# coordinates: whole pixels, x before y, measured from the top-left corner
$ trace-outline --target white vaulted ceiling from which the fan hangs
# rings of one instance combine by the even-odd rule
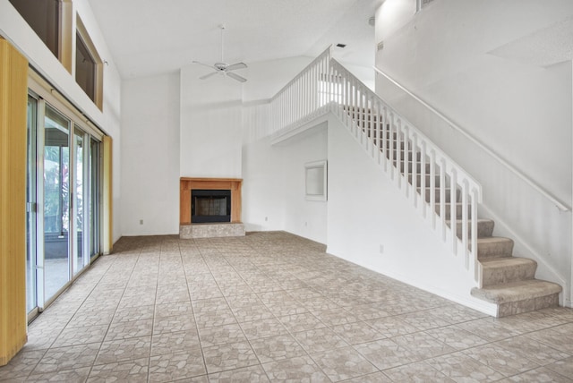
[[[222,23],[229,64],[316,56],[343,43],[335,57],[371,66],[368,19],[383,0],[89,1],[121,75],[141,77],[219,61]]]

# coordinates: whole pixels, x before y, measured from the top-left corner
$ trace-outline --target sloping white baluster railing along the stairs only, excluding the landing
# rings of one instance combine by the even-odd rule
[[[451,243],[452,252],[463,256],[466,269],[481,284],[477,204],[482,202],[482,185],[334,58],[329,79],[334,115],[396,181],[398,190],[405,191],[442,241]],[[456,202],[461,202],[459,215]]]

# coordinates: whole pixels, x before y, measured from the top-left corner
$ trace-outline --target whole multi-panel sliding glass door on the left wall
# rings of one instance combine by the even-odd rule
[[[27,308],[33,317],[99,254],[99,140],[43,98],[28,102]]]

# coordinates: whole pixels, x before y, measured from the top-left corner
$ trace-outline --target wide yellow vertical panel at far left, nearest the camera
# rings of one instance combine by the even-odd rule
[[[28,61],[0,38],[0,366],[26,343]]]

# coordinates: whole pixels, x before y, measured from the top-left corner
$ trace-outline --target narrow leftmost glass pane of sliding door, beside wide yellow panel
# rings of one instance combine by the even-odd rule
[[[28,137],[26,149],[26,311],[38,307],[36,272],[36,128],[38,100],[28,97]]]

